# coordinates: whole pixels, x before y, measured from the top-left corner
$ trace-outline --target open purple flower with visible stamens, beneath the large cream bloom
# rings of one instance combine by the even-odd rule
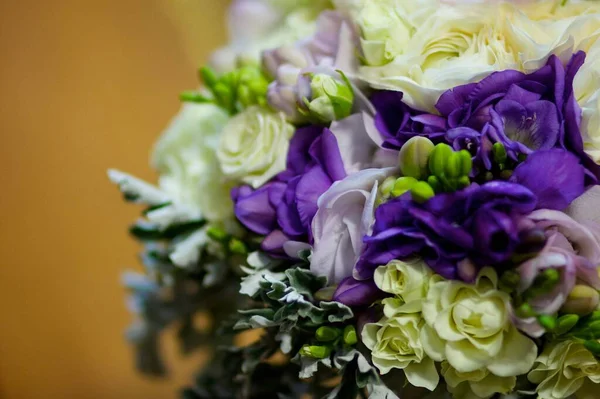
[[[531,74],[496,72],[445,92],[436,108],[447,121],[446,139],[455,148],[478,146],[477,160],[485,169],[490,169],[491,145],[496,142],[514,161],[519,154],[560,148],[586,168],[586,185],[597,183],[600,166],[583,150],[581,110],[573,94],[573,78],[584,60],[585,53],[579,52],[565,67],[552,56]]]

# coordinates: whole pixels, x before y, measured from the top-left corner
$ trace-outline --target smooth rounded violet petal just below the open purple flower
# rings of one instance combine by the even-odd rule
[[[579,159],[560,149],[536,151],[520,164],[511,181],[530,189],[538,209],[562,211],[585,191],[585,169]]]

